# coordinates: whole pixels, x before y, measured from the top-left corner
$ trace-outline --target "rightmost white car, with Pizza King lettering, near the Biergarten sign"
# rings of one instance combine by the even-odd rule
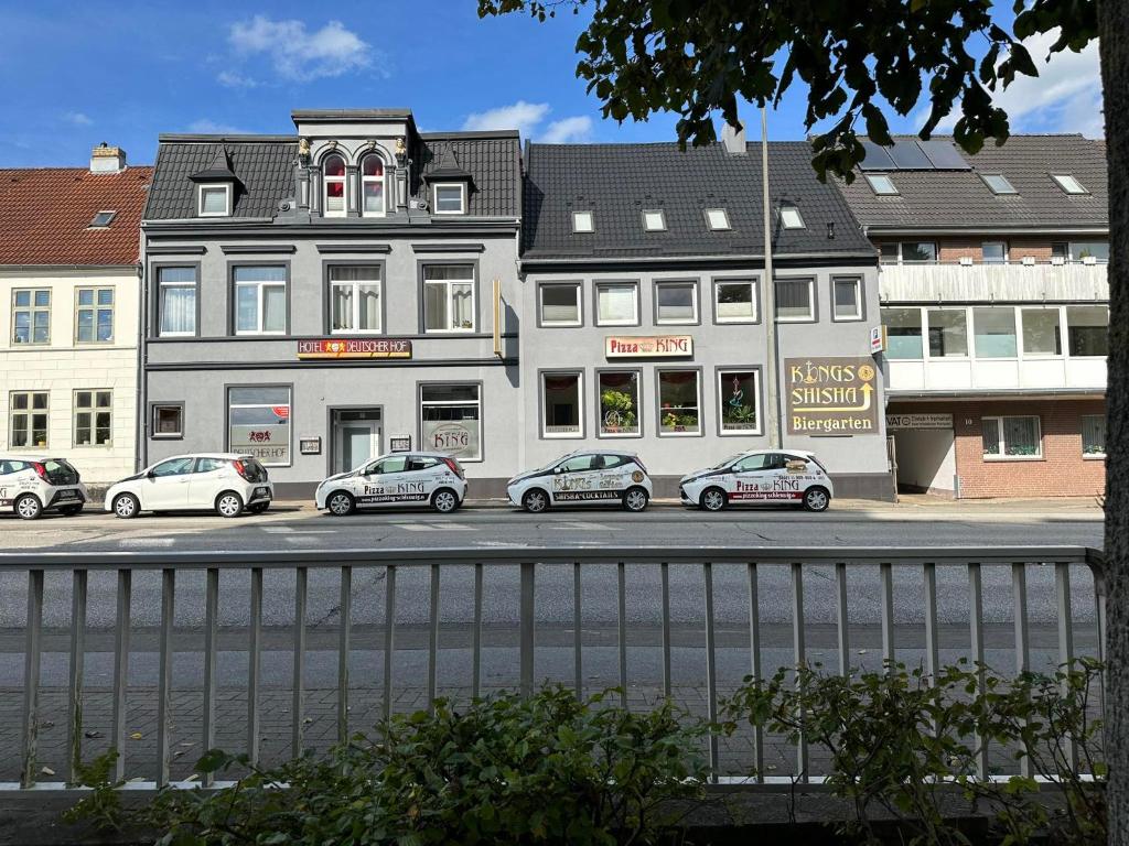
[[[720,511],[734,503],[795,503],[808,511],[826,511],[834,486],[812,452],[755,449],[686,474],[679,482],[679,493],[683,504],[706,511]]]

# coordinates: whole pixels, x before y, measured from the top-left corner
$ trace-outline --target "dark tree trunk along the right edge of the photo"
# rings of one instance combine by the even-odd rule
[[[1105,435],[1106,760],[1110,843],[1129,844],[1129,2],[1100,0],[1110,175],[1110,356]]]

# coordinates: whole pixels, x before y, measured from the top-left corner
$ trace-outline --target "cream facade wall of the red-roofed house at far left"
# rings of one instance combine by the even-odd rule
[[[114,290],[113,341],[77,343],[78,288]],[[14,343],[14,291],[51,291],[49,344]],[[138,368],[138,289],[132,267],[113,270],[5,271],[0,273],[0,452],[50,452],[70,460],[95,486],[129,475],[134,468]],[[47,441],[12,448],[11,394],[47,391]],[[75,391],[112,391],[112,434],[106,446],[76,446]]]

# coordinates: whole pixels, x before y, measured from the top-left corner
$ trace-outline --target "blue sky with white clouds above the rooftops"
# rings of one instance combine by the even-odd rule
[[[158,133],[292,133],[295,108],[408,107],[422,131],[518,129],[550,143],[673,140],[672,115],[601,117],[575,73],[583,18],[480,20],[476,7],[0,0],[3,166],[78,166],[103,141],[150,164]],[[1096,45],[1044,67],[1050,41],[1032,45],[1041,78],[1000,97],[1013,131],[1100,135]],[[797,88],[770,135],[803,138],[803,115]],[[913,132],[924,112],[890,117]]]

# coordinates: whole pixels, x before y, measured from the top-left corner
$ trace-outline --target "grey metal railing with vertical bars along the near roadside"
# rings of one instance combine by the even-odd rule
[[[131,631],[134,619],[131,616],[133,605],[134,574],[139,571],[158,572],[159,582],[159,625],[157,627],[159,636],[158,645],[158,668],[156,685],[156,778],[143,783],[130,784],[131,787],[160,787],[170,783],[170,725],[173,721],[173,656],[174,656],[174,613],[177,603],[178,576],[189,571],[203,571],[204,584],[202,596],[203,625],[201,627],[182,626],[182,645],[187,637],[193,643],[199,643],[202,647],[203,676],[202,690],[202,717],[200,722],[200,748],[211,749],[216,746],[217,734],[217,667],[218,667],[218,644],[220,634],[220,573],[222,571],[250,572],[250,602],[246,607],[246,652],[247,652],[247,717],[246,717],[246,752],[252,761],[260,760],[260,735],[262,731],[261,702],[263,697],[263,574],[264,571],[292,571],[294,582],[294,618],[292,632],[292,686],[290,723],[291,737],[290,749],[301,750],[304,746],[305,704],[306,704],[306,658],[307,658],[307,603],[309,598],[309,572],[313,571],[336,571],[340,574],[340,598],[336,605],[336,735],[344,739],[349,735],[349,711],[350,695],[353,686],[350,679],[350,655],[353,650],[353,575],[355,572],[366,574],[383,574],[384,597],[383,597],[383,632],[380,642],[383,643],[383,678],[380,685],[380,714],[388,716],[394,710],[395,694],[400,679],[394,673],[394,660],[397,650],[397,633],[404,632],[408,624],[397,624],[397,592],[396,578],[399,573],[406,571],[418,572],[423,569],[428,574],[428,590],[426,602],[423,593],[413,594],[409,599],[417,601],[421,610],[426,607],[426,624],[415,626],[415,634],[425,634],[426,625],[427,640],[427,669],[425,684],[427,702],[431,703],[444,688],[447,680],[439,677],[439,638],[441,585],[444,576],[453,571],[460,574],[457,581],[472,585],[473,592],[470,602],[471,614],[469,618],[462,620],[464,627],[469,629],[470,651],[470,695],[478,697],[483,693],[482,658],[483,658],[483,607],[484,588],[487,587],[487,575],[493,576],[499,572],[513,584],[516,575],[517,603],[516,608],[510,608],[514,614],[511,619],[516,623],[509,626],[507,632],[516,634],[517,652],[517,677],[514,679],[516,687],[524,694],[534,690],[535,685],[550,679],[537,678],[535,673],[535,656],[537,654],[539,627],[544,626],[544,620],[539,620],[537,614],[537,585],[539,580],[545,579],[546,573],[555,576],[564,576],[564,584],[571,582],[571,619],[564,618],[564,623],[571,624],[571,678],[551,679],[553,681],[567,682],[576,688],[580,695],[585,688],[585,661],[586,650],[584,644],[585,633],[585,573],[593,567],[614,567],[615,597],[614,597],[614,631],[615,631],[615,680],[620,688],[621,703],[629,705],[629,658],[633,650],[629,647],[629,614],[628,597],[629,583],[628,572],[633,574],[645,574],[648,579],[654,579],[657,571],[658,607],[647,608],[649,616],[654,619],[653,625],[657,626],[659,637],[658,649],[660,651],[659,676],[656,684],[656,694],[669,697],[674,689],[672,682],[672,647],[673,631],[681,626],[700,631],[703,637],[701,646],[702,655],[700,662],[694,662],[694,667],[700,670],[698,682],[704,687],[706,716],[711,720],[718,716],[718,664],[719,652],[718,636],[719,626],[716,620],[716,597],[715,597],[715,573],[718,569],[725,569],[728,580],[735,570],[739,569],[747,593],[744,598],[733,594],[725,596],[727,608],[743,607],[741,627],[747,626],[747,640],[743,643],[738,640],[734,645],[733,626],[734,620],[727,622],[727,627],[723,633],[729,643],[726,650],[739,650],[745,656],[742,664],[747,668],[745,672],[754,677],[762,677],[767,670],[771,675],[777,664],[765,666],[765,656],[772,653],[765,641],[767,626],[762,624],[762,613],[768,609],[774,618],[781,622],[777,629],[790,629],[790,643],[785,646],[785,654],[788,660],[785,666],[795,667],[809,661],[809,649],[807,637],[809,632],[815,631],[815,624],[811,620],[811,615],[805,614],[805,575],[815,573],[821,576],[823,589],[829,589],[833,594],[830,605],[824,609],[830,609],[829,616],[834,618],[834,636],[832,652],[835,653],[834,667],[840,673],[849,673],[852,670],[851,637],[852,627],[859,625],[874,625],[881,633],[881,658],[883,660],[895,660],[901,651],[904,655],[907,651],[914,654],[921,653],[920,658],[928,673],[935,673],[940,667],[940,634],[946,631],[951,644],[954,640],[954,629],[961,628],[954,625],[952,619],[947,623],[940,620],[938,614],[938,573],[943,574],[948,588],[946,602],[951,606],[953,589],[960,587],[960,593],[964,597],[966,591],[966,608],[962,609],[962,616],[966,629],[966,641],[962,636],[961,644],[955,649],[961,654],[971,660],[984,661],[986,656],[986,626],[1008,627],[1006,619],[987,622],[984,617],[984,574],[992,573],[1001,579],[995,580],[997,588],[1001,584],[1009,584],[1010,590],[1004,587],[991,596],[995,605],[999,605],[999,593],[1009,593],[1004,601],[1009,602],[1012,609],[1009,650],[1014,652],[1015,669],[1017,671],[1031,668],[1032,633],[1031,633],[1031,597],[1027,584],[1029,569],[1036,566],[1050,566],[1053,569],[1053,588],[1049,591],[1053,593],[1053,605],[1049,606],[1051,597],[1038,597],[1042,608],[1052,608],[1053,628],[1057,634],[1057,650],[1053,650],[1054,663],[1066,663],[1075,658],[1075,607],[1077,600],[1071,596],[1071,570],[1079,566],[1088,569],[1092,573],[1093,601],[1084,602],[1082,607],[1088,609],[1085,615],[1093,615],[1093,628],[1088,629],[1094,636],[1094,655],[1102,658],[1105,631],[1105,589],[1102,566],[1102,554],[1099,550],[1083,547],[1013,547],[1013,548],[701,548],[701,547],[676,547],[676,548],[498,548],[498,549],[408,549],[408,550],[343,550],[331,556],[322,554],[306,554],[300,552],[272,552],[272,553],[166,553],[166,554],[103,554],[103,553],[47,553],[37,555],[24,554],[0,554],[0,575],[11,578],[12,574],[26,572],[27,579],[27,617],[26,617],[26,640],[24,647],[24,672],[23,672],[23,714],[21,732],[18,749],[0,748],[0,756],[8,756],[11,759],[19,756],[21,761],[19,782],[0,783],[0,790],[30,790],[30,788],[63,788],[78,782],[78,768],[81,763],[81,748],[84,737],[84,664],[87,652],[87,611],[88,611],[88,580],[90,574],[106,573],[116,574],[116,617],[113,626],[113,675],[110,686],[112,695],[112,717],[110,744],[117,749],[120,757],[116,760],[115,775],[119,779],[131,777],[131,764],[133,761],[124,755],[126,748],[126,697],[129,695],[129,666],[131,653]],[[701,594],[701,618],[693,619],[692,623],[672,623],[672,570],[682,572],[690,569],[697,581],[700,574]],[[561,573],[563,571],[563,573]],[[63,574],[59,576],[56,574]],[[44,724],[44,716],[41,713],[41,667],[44,652],[44,585],[45,575],[51,575],[52,580],[64,579],[70,574],[71,613],[67,625],[55,628],[63,634],[69,634],[69,672],[67,679],[67,731],[68,731],[68,760],[65,781],[62,782],[40,782],[37,776],[37,739],[41,726]],[[473,581],[466,576],[473,574]],[[568,575],[571,579],[568,579]],[[860,597],[865,601],[852,602],[848,585],[848,574],[851,580],[865,579],[867,584],[873,584],[873,589],[867,589],[861,593],[856,592],[855,599]],[[895,579],[896,574],[896,579]],[[422,575],[422,574],[420,574]],[[771,576],[771,578],[770,578]],[[1074,581],[1078,581],[1075,572]],[[110,578],[113,578],[110,576]],[[920,581],[918,581],[920,579]],[[909,582],[907,582],[909,580]],[[1048,580],[1041,580],[1048,581]],[[1087,580],[1088,581],[1088,580]],[[762,585],[772,585],[772,591],[778,599],[787,596],[787,608],[781,606],[785,602],[769,605],[771,599],[761,594]],[[63,581],[63,584],[65,582]],[[901,585],[902,592],[895,591],[895,584]],[[1049,585],[1047,585],[1049,588]],[[1091,584],[1086,585],[1087,588]],[[567,588],[566,588],[567,590]],[[920,591],[920,593],[918,592]],[[734,591],[735,592],[735,591]],[[910,599],[910,610],[904,605],[905,597]],[[914,605],[914,600],[920,597],[920,606]],[[403,599],[404,597],[400,597]],[[496,597],[497,598],[497,597]],[[863,614],[859,609],[873,599],[877,600],[877,619],[873,615],[868,620],[860,619],[868,614]],[[603,598],[610,603],[610,597]],[[680,596],[680,601],[685,597]],[[895,599],[903,600],[901,608],[902,622],[895,618]],[[769,603],[767,603],[769,602]],[[609,605],[609,607],[611,607]],[[946,606],[947,607],[947,606]],[[787,610],[787,614],[785,614]],[[966,613],[965,613],[966,610]],[[952,608],[947,614],[952,617]],[[905,618],[911,622],[907,623]],[[560,624],[560,619],[558,623]],[[540,624],[540,626],[539,626]],[[875,625],[876,624],[876,625]],[[244,626],[240,625],[240,628]],[[632,629],[636,624],[632,623]],[[69,632],[68,632],[69,629]],[[516,629],[516,631],[515,631]],[[994,631],[995,631],[994,629]],[[563,627],[567,633],[568,626]],[[781,637],[782,632],[777,632]],[[924,650],[918,644],[920,635],[924,634]],[[744,637],[744,635],[742,635]],[[1088,638],[1088,635],[1087,635]],[[913,641],[910,644],[909,641]],[[997,638],[998,640],[998,638]],[[901,642],[900,642],[901,641]],[[460,649],[465,649],[463,641]],[[542,649],[545,649],[542,646]],[[560,651],[559,644],[555,646]],[[953,651],[953,646],[946,647],[947,652]],[[781,651],[776,650],[779,654]],[[826,652],[828,650],[823,650]],[[132,694],[137,696],[137,691]],[[755,769],[755,779],[765,785],[790,785],[793,777],[772,777],[765,775],[764,755],[765,739],[760,730],[754,730],[751,738],[751,760],[750,765]],[[808,757],[807,744],[800,739],[796,746],[796,778],[799,781],[819,781],[820,774],[816,772]],[[714,737],[709,741],[710,763],[717,767],[718,764],[718,738]],[[1019,766],[1023,766],[1022,763]],[[979,770],[982,776],[989,774],[989,761],[987,748],[980,754]],[[204,785],[210,784],[208,777],[203,779]]]

